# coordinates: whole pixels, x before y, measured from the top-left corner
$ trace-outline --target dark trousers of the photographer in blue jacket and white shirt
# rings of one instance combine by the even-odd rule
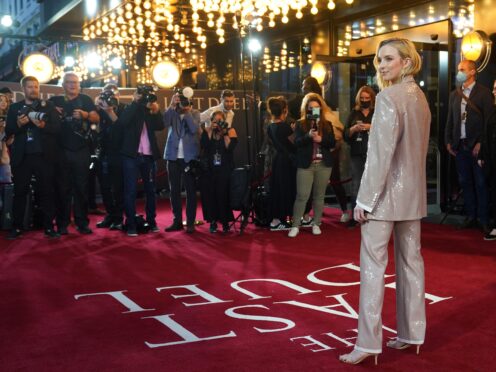
[[[184,188],[186,189],[186,221],[188,225],[193,225],[196,219],[196,182],[195,176],[191,172],[184,172],[185,168],[184,159],[167,161],[167,175],[169,177],[174,222],[182,223],[181,182],[184,182]]]

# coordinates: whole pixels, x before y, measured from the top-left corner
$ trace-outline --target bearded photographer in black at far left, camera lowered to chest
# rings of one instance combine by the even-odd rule
[[[60,120],[52,103],[40,100],[40,85],[33,76],[21,80],[24,99],[13,103],[7,114],[5,135],[14,135],[11,167],[14,180],[14,223],[8,239],[21,235],[31,177],[37,180],[45,236],[59,237],[53,230],[54,164]]]

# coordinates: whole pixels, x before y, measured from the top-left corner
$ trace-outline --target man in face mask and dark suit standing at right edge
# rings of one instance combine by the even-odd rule
[[[488,192],[485,175],[477,158],[493,110],[493,100],[489,89],[476,82],[476,74],[475,62],[463,60],[459,63],[456,80],[461,86],[450,95],[445,142],[446,149],[455,157],[467,214],[467,219],[460,227],[475,227],[479,218],[487,233]]]

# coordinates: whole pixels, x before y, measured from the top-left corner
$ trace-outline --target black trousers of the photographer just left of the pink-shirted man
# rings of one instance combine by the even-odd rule
[[[107,217],[113,223],[122,223],[124,212],[124,179],[120,155],[102,156],[98,160],[98,178]]]

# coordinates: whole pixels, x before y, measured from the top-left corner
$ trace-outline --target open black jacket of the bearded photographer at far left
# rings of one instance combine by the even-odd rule
[[[41,102],[45,102],[45,106],[40,105],[39,108],[37,108],[37,111],[48,114],[48,119],[45,121],[45,127],[39,129],[39,132],[41,133],[41,149],[43,158],[47,162],[53,163],[57,158],[57,150],[59,149],[57,146],[57,137],[60,131],[60,118],[52,102]],[[22,163],[26,152],[27,129],[29,126],[34,126],[33,123],[28,123],[22,127],[17,125],[19,110],[24,105],[24,100],[13,103],[9,107],[9,111],[7,113],[5,134],[6,136],[10,136],[12,134],[14,135],[14,142],[12,143],[10,154],[10,165],[13,168]]]

